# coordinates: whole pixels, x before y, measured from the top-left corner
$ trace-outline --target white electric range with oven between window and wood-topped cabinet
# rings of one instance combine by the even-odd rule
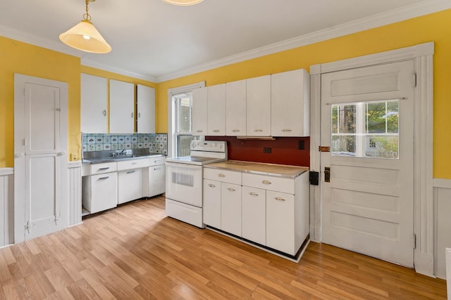
[[[204,228],[202,166],[226,160],[225,141],[192,141],[190,156],[166,158],[166,215]]]

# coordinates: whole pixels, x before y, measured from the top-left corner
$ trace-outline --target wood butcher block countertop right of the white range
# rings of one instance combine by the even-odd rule
[[[204,167],[285,178],[296,178],[304,172],[309,171],[308,167],[289,166],[285,164],[266,164],[262,162],[242,162],[239,160],[215,162],[214,164],[205,164]]]

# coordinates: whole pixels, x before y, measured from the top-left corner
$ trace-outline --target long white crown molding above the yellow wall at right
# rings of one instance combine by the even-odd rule
[[[367,18],[354,20],[342,25],[326,28],[325,30],[319,30],[310,34],[304,34],[300,37],[287,39],[278,43],[270,44],[260,48],[255,48],[250,51],[237,53],[233,56],[214,60],[209,63],[190,67],[178,72],[169,73],[160,77],[156,77],[156,82],[168,81],[171,79],[184,77],[190,74],[204,72],[214,69],[216,67],[224,67],[233,63],[240,63],[245,60],[253,58],[259,58],[261,56],[267,56],[269,54],[278,53],[280,51],[289,50],[301,46],[307,46],[309,44],[318,43],[319,41],[326,41],[336,37],[342,37],[347,34],[360,32],[363,30],[369,30],[371,28],[381,27],[383,25],[392,24],[394,22],[400,22],[411,18],[416,18],[421,15],[428,15],[430,13],[436,13],[438,11],[444,11],[451,8],[451,1],[449,0],[425,0],[409,6],[403,6],[402,8],[396,8],[385,13],[378,13],[371,15]]]

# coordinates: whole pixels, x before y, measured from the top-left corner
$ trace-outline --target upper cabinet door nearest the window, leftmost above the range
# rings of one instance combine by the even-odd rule
[[[206,136],[207,96],[207,88],[192,90],[191,132],[193,136]]]

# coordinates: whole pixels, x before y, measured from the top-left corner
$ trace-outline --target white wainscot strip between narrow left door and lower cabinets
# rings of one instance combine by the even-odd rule
[[[69,226],[82,223],[82,164],[68,162]]]

